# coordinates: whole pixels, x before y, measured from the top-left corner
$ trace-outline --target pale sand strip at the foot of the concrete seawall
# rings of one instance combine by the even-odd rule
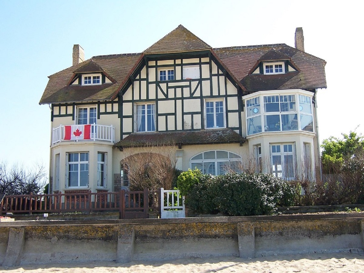
[[[0,272],[364,272],[364,254],[325,253],[241,259],[235,257],[186,258],[174,261],[88,262],[47,265],[0,266]]]

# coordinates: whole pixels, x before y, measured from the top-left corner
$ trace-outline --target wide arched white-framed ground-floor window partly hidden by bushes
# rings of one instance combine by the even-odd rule
[[[209,158],[204,158],[205,153],[207,152],[214,152],[215,153],[215,158],[214,159],[209,159]],[[228,156],[227,158],[217,158],[217,152],[227,152]],[[202,159],[192,159],[194,157],[197,157],[198,155],[202,155]],[[212,175],[219,175],[219,166],[218,163],[219,162],[227,162],[230,163],[231,162],[238,162],[240,163],[240,165],[242,164],[242,157],[239,154],[233,153],[231,151],[226,151],[226,150],[207,150],[207,151],[203,151],[201,153],[195,154],[193,155],[193,157],[190,158],[190,169],[193,170],[194,167],[192,167],[193,164],[202,164],[202,166],[204,165],[204,163],[213,163],[214,165],[211,165],[211,167],[213,167],[215,169],[215,174]],[[201,172],[203,173],[204,170],[201,170]]]

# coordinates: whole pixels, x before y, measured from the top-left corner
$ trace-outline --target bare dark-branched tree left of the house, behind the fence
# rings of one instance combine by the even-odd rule
[[[35,164],[32,169],[14,164],[8,167],[6,162],[0,163],[0,192],[7,195],[37,194],[47,184],[47,173],[43,165]]]

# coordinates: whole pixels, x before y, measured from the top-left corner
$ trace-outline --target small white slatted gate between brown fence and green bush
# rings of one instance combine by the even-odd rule
[[[161,218],[185,218],[185,197],[179,190],[161,188]]]

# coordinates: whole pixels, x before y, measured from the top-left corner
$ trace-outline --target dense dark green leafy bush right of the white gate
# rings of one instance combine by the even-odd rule
[[[270,174],[202,175],[189,170],[178,177],[186,205],[201,213],[234,216],[272,214],[277,206],[290,206],[294,188]],[[181,186],[181,187],[180,187]]]

